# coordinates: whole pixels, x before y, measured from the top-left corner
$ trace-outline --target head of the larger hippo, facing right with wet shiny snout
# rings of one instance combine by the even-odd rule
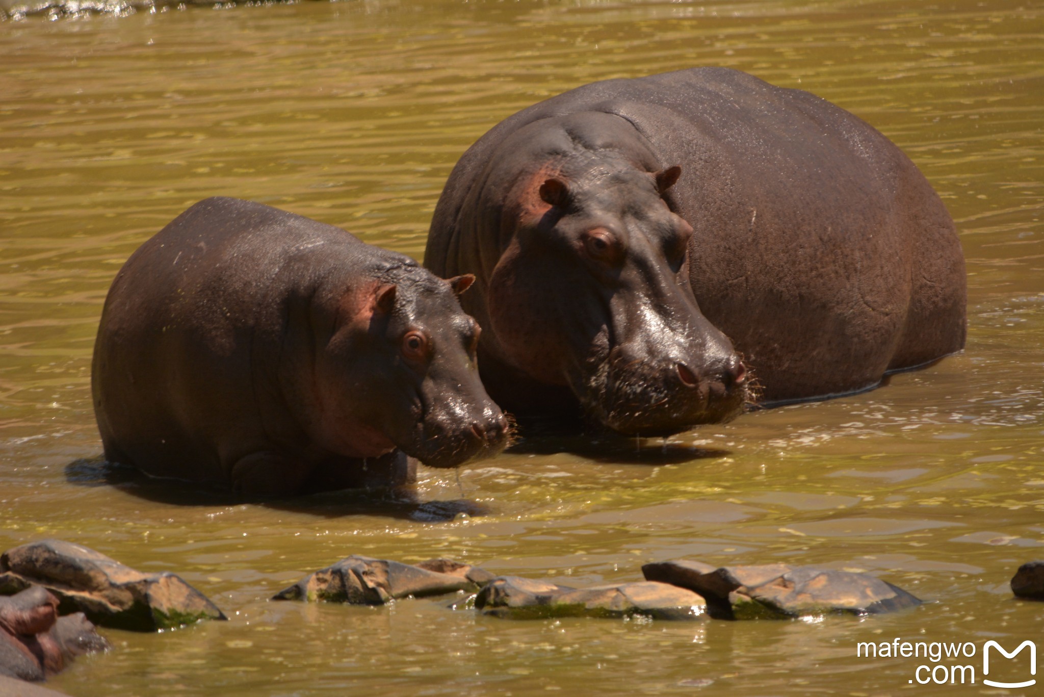
[[[748,398],[743,364],[683,269],[692,227],[664,199],[680,175],[604,152],[545,165],[516,185],[489,281],[498,357],[568,386],[623,434],[728,420]]]

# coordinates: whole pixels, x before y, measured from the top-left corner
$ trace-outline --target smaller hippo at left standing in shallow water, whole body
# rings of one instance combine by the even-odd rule
[[[262,204],[201,201],[105,299],[91,375],[105,459],[272,497],[495,455],[508,427],[457,302],[473,280]]]

